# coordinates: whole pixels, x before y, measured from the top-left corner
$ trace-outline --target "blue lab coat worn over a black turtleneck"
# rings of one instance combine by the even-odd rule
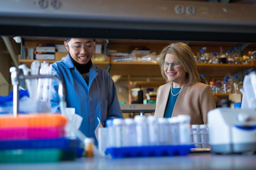
[[[61,61],[52,64],[56,77],[64,84],[67,108],[75,108],[76,113],[83,117],[81,132],[95,140],[95,129],[98,126],[97,117],[105,126],[108,118],[122,118],[116,87],[107,71],[92,64],[89,72],[89,83],[73,65],[68,54]],[[59,112],[58,83],[52,81],[51,107],[52,112]]]

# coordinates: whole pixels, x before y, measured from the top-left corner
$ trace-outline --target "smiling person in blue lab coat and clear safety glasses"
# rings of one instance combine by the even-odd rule
[[[81,132],[96,139],[95,130],[105,126],[106,119],[123,118],[116,87],[105,69],[91,61],[95,52],[95,40],[67,38],[64,45],[68,54],[61,61],[52,64],[56,76],[64,84],[67,108],[83,117]],[[52,83],[51,107],[53,112],[60,112],[58,84]]]

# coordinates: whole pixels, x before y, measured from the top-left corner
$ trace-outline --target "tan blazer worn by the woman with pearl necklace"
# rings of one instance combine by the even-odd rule
[[[168,82],[157,89],[157,105],[154,116],[164,116],[171,85],[172,82]],[[172,116],[189,114],[192,125],[207,124],[207,113],[215,108],[212,88],[209,85],[197,82],[181,89],[173,108]]]

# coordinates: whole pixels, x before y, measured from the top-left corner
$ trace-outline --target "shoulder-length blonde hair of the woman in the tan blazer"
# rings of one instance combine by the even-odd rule
[[[181,66],[186,71],[186,82],[184,85],[193,85],[200,82],[200,76],[196,67],[194,54],[191,48],[183,42],[175,42],[163,49],[160,54],[159,64],[163,78],[168,82],[168,78],[164,72],[162,62],[164,62],[166,54],[172,54],[180,61]]]

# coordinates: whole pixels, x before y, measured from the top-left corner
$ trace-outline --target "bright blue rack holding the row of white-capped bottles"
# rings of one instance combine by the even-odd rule
[[[112,158],[151,157],[151,156],[186,156],[195,145],[159,145],[134,147],[109,147],[105,154]]]

